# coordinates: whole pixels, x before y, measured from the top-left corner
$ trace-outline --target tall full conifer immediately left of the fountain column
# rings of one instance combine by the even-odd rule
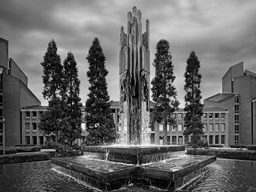
[[[86,138],[88,145],[111,143],[117,137],[114,117],[110,111],[110,96],[107,92],[108,71],[105,68],[105,60],[100,41],[95,38],[87,55],[90,92],[86,101],[85,120],[89,133]]]

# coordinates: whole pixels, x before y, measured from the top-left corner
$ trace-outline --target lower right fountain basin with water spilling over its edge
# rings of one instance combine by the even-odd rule
[[[142,166],[142,176],[153,186],[174,190],[208,171],[214,161],[216,156],[184,155]]]

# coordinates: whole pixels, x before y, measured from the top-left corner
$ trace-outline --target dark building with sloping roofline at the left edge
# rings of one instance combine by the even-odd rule
[[[5,144],[21,144],[21,108],[41,105],[29,90],[28,78],[12,58],[9,43],[0,38],[0,145],[3,143],[3,117],[5,120]]]

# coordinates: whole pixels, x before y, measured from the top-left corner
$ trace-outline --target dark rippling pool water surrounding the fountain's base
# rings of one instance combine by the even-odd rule
[[[256,161],[218,159],[208,174],[179,191],[256,191]],[[0,165],[0,191],[97,191],[58,174],[50,161]],[[118,191],[160,191],[147,186],[126,186]]]

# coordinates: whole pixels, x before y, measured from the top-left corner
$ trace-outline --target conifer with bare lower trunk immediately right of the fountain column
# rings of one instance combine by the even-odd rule
[[[173,85],[176,77],[169,48],[169,42],[163,39],[156,44],[156,58],[153,63],[156,71],[155,77],[151,80],[152,97],[155,102],[151,118],[159,123],[164,122],[164,144],[167,144],[167,124],[175,126],[172,114],[178,110],[179,105],[176,100],[176,87]]]

